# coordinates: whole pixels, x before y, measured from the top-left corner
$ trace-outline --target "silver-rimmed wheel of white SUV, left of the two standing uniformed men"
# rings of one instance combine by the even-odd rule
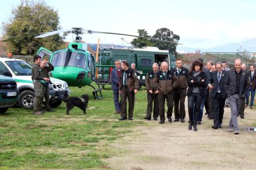
[[[19,97],[19,105],[21,108],[32,109],[35,99],[35,92],[23,91]]]

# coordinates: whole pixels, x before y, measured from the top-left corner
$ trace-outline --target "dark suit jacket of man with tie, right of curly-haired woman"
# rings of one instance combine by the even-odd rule
[[[226,99],[228,97],[228,86],[226,84],[227,72],[222,70],[220,82],[218,81],[218,71],[211,72],[211,84],[213,84],[213,89],[211,90],[211,98],[215,99],[220,88],[221,98]]]

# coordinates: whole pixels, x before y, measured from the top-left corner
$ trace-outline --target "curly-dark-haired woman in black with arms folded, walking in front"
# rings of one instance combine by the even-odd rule
[[[204,87],[206,86],[206,75],[203,72],[203,63],[196,60],[189,71],[187,78],[187,101],[189,106],[189,130],[194,127],[197,131],[197,119],[200,113],[200,105],[205,96]],[[193,118],[194,115],[194,118]]]

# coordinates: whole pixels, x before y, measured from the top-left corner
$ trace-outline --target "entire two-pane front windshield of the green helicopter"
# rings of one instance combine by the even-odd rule
[[[67,63],[67,66],[71,67],[80,67],[80,68],[86,68],[86,62],[85,62],[85,54],[82,54],[80,52],[70,52],[70,59]],[[67,57],[67,52],[56,52],[53,55],[53,60],[51,60],[51,63],[53,66],[64,66],[65,60]]]

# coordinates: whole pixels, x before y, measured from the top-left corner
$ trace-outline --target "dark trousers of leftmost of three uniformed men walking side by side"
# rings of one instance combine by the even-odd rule
[[[151,112],[153,110],[153,118],[158,118],[159,116],[159,105],[158,105],[158,94],[147,92],[148,106],[147,106],[147,118],[151,118]]]

